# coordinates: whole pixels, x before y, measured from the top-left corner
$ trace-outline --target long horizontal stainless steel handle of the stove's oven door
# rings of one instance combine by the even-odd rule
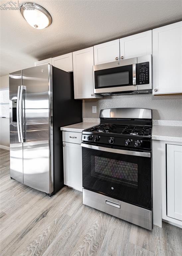
[[[123,155],[150,157],[150,152],[138,152],[138,151],[116,149],[116,148],[105,148],[105,147],[99,147],[99,146],[90,145],[90,144],[84,144],[84,143],[81,143],[81,147],[91,148],[91,149],[101,150],[101,151],[106,151],[111,153],[123,154]]]

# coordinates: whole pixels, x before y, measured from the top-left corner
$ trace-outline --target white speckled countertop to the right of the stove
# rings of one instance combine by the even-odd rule
[[[154,125],[152,139],[182,142],[182,126]]]

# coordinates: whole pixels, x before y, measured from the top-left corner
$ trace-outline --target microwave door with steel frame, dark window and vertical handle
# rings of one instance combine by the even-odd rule
[[[94,93],[135,91],[137,58],[95,65]]]

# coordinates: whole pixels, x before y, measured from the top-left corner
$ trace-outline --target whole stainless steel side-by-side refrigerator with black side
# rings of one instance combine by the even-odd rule
[[[82,121],[73,74],[43,65],[9,75],[10,177],[49,196],[64,186],[61,126]]]

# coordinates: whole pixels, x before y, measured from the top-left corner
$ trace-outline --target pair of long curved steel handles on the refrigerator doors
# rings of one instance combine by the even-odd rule
[[[18,86],[18,95],[17,95],[17,128],[18,128],[18,140],[19,142],[25,142],[26,139],[23,138],[23,122],[22,122],[22,94],[23,90],[26,90],[26,87],[21,85]]]

